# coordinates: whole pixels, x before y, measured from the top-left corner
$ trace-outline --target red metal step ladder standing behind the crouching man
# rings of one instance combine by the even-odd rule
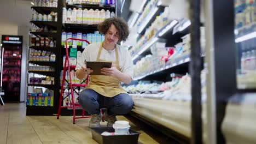
[[[69,56],[68,56],[68,47],[67,47],[67,41],[68,40],[86,41],[86,43],[88,43],[88,44],[90,44],[90,42],[88,40],[85,40],[85,39],[75,39],[75,38],[68,38],[65,42],[66,59],[65,59],[65,64],[64,64],[64,68],[63,68],[63,77],[62,77],[61,94],[60,94],[60,101],[59,101],[59,109],[58,109],[57,119],[59,119],[59,117],[60,117],[60,112],[61,112],[62,108],[69,108],[69,109],[73,110],[73,124],[75,124],[75,119],[90,118],[91,117],[91,116],[84,116],[84,109],[82,110],[82,116],[75,116],[75,109],[80,108],[80,105],[74,103],[74,92],[75,91],[73,91],[74,90],[73,87],[86,87],[88,85],[88,82],[89,82],[89,76],[87,76],[85,84],[73,84],[72,83],[70,71],[71,71],[71,69],[75,70],[75,66],[72,67],[72,66],[69,65]],[[65,76],[66,76],[66,70],[67,69],[68,69],[68,77],[69,77],[68,86],[71,89],[71,106],[61,106],[62,100],[63,100],[63,89],[64,89]],[[102,115],[102,110],[101,110],[101,115]],[[102,121],[104,121],[103,117],[102,117]]]

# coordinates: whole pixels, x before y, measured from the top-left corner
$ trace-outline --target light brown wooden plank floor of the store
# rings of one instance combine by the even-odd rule
[[[123,116],[119,120],[126,120]],[[72,123],[71,116],[26,116],[24,103],[0,105],[0,143],[97,143],[91,138],[88,128],[90,119],[78,119]],[[137,124],[137,123],[136,123]],[[106,122],[102,123],[106,125]],[[132,129],[139,131],[139,143],[174,143],[165,135],[139,127],[130,122]],[[176,142],[175,142],[176,143]]]

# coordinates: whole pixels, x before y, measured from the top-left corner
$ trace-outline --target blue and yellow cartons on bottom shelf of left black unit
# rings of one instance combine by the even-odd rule
[[[53,106],[53,98],[51,93],[27,93],[27,105]]]

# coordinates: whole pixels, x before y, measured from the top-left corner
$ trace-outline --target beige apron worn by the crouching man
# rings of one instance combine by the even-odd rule
[[[100,49],[98,50],[98,55],[97,55],[96,61],[97,62],[110,62],[110,61],[104,61],[104,60],[100,59],[102,45],[103,45],[103,43],[101,43]],[[112,62],[112,63],[114,63],[115,66],[117,67],[117,69],[120,70],[117,45],[115,45],[115,58],[116,58],[116,61]],[[86,88],[92,89],[105,97],[111,98],[120,93],[126,93],[126,91],[121,87],[120,83],[121,83],[121,81],[113,76],[91,75],[89,85],[86,86]]]

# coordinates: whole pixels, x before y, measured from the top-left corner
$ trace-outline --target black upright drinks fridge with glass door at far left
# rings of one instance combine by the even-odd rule
[[[22,36],[2,35],[1,87],[4,101],[20,101]]]

